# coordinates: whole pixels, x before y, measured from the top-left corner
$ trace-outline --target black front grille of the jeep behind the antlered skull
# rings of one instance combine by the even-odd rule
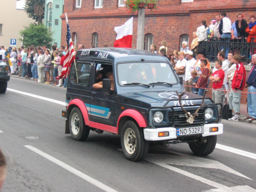
[[[198,106],[199,107],[199,106]],[[186,108],[185,110],[189,112],[190,114],[194,114],[198,108],[194,109],[189,109]],[[174,119],[173,119],[173,111],[168,111],[168,120],[169,123],[173,123],[174,121],[174,126],[183,126],[183,125],[190,125],[186,120],[186,114],[182,111],[180,108],[174,109]],[[192,124],[203,124],[204,121],[204,115],[203,115],[203,108],[201,108],[198,112],[198,116],[194,118],[194,122]]]

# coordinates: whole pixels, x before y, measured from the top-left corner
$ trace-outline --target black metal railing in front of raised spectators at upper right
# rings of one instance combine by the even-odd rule
[[[243,62],[250,63],[251,54],[256,52],[256,38],[252,38],[252,42],[247,42],[245,38],[235,39],[230,41],[222,41],[217,37],[207,38],[207,41],[202,41],[198,50],[202,50],[206,53],[206,58],[209,61],[217,60],[219,51],[226,53],[233,53],[233,55],[240,54],[243,57]],[[255,41],[255,42],[254,42]]]

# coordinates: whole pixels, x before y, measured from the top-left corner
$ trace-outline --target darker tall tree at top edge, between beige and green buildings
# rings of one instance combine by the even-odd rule
[[[25,4],[27,15],[39,24],[45,18],[45,0],[27,0]]]

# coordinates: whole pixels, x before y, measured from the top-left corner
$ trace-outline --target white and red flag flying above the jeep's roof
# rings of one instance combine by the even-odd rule
[[[127,20],[124,25],[115,27],[117,33],[114,47],[132,48],[133,40],[133,17]]]

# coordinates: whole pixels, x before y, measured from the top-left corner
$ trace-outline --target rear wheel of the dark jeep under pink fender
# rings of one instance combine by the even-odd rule
[[[74,107],[69,116],[69,130],[72,139],[84,141],[88,138],[90,129],[84,123],[83,116],[79,108]]]

